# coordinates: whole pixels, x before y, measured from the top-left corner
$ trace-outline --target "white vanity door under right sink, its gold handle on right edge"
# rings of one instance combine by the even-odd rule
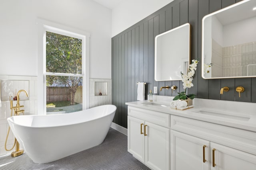
[[[171,170],[210,170],[210,142],[170,130]]]

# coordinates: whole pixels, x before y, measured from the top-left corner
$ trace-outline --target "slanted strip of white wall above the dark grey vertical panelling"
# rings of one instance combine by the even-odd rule
[[[112,10],[112,37],[174,0],[129,0]]]

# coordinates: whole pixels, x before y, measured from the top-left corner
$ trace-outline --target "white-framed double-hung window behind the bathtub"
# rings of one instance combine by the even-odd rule
[[[85,36],[45,26],[44,107],[46,114],[84,109]]]

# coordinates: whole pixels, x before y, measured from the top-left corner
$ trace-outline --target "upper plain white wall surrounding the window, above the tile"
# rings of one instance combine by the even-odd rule
[[[0,75],[38,76],[37,18],[90,33],[90,78],[111,78],[111,10],[92,0],[1,0]]]

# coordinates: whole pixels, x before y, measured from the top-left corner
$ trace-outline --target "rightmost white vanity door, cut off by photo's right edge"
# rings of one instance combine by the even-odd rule
[[[255,155],[216,143],[210,145],[211,170],[256,170]]]

